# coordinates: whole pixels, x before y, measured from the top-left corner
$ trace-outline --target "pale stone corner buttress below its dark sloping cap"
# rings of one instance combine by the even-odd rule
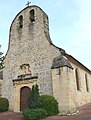
[[[73,69],[60,67],[52,70],[53,96],[58,101],[61,115],[76,111]]]

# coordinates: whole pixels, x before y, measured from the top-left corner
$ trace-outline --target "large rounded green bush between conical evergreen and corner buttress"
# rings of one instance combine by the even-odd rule
[[[48,116],[57,115],[59,113],[58,103],[53,96],[41,95],[40,103],[40,107],[47,111]]]

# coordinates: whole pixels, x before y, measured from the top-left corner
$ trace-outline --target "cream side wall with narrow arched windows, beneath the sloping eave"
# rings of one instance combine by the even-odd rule
[[[70,61],[71,65],[73,66],[73,74],[74,74],[74,82],[75,82],[75,98],[76,98],[76,105],[82,106],[86,103],[91,102],[91,71],[86,68],[84,65],[82,65],[79,61],[74,59],[71,56],[67,56],[68,60]],[[79,79],[79,90],[77,90],[77,84],[76,84],[76,69],[78,70],[78,79]],[[88,91],[86,88],[86,77],[87,75],[87,86],[88,86]],[[71,86],[73,87],[73,86]]]

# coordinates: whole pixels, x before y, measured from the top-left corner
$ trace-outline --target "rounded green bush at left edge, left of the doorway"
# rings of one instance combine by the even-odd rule
[[[0,98],[0,112],[7,111],[9,107],[9,101],[6,98]]]

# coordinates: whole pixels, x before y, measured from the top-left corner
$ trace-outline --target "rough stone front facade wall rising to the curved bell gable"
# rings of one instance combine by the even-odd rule
[[[30,22],[29,12],[35,11],[35,21]],[[23,16],[23,26],[19,27],[19,17]],[[13,79],[21,74],[20,66],[29,64],[32,76],[38,76],[41,94],[52,95],[51,66],[53,58],[61,55],[58,48],[51,43],[47,15],[36,6],[22,10],[10,27],[9,48],[4,59],[3,96],[13,109]],[[8,91],[8,92],[7,92]]]

